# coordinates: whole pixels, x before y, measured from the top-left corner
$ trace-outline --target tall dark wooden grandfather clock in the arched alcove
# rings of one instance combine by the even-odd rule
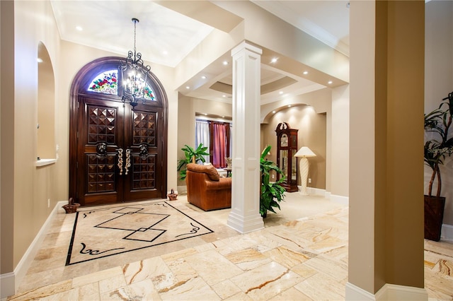
[[[282,122],[277,125],[277,166],[282,170],[286,180],[282,187],[288,192],[297,191],[297,131],[291,129],[289,124]],[[277,180],[280,174],[277,174]]]

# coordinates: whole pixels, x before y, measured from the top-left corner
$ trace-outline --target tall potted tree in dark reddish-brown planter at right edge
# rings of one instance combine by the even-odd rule
[[[429,140],[425,142],[425,164],[432,170],[428,195],[425,195],[425,238],[440,240],[442,220],[444,217],[445,197],[440,196],[442,178],[440,166],[445,157],[453,152],[453,137],[449,137],[449,129],[453,119],[453,92],[440,102],[440,106],[425,114],[425,131]],[[437,179],[437,193],[432,195],[432,187]]]

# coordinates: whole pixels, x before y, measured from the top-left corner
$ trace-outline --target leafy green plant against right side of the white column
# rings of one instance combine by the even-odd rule
[[[282,183],[285,182],[285,175],[282,170],[270,160],[266,160],[271,146],[267,146],[260,157],[260,172],[261,172],[261,191],[260,191],[260,215],[265,218],[268,211],[276,213],[275,208],[280,209],[280,201],[285,199],[285,188]],[[270,172],[278,172],[280,179],[277,182],[270,182]]]

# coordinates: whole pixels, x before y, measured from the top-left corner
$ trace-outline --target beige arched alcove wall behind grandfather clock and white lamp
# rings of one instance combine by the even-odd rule
[[[293,105],[285,110],[280,110],[270,117],[268,124],[263,124],[263,148],[272,146],[268,157],[277,162],[277,136],[275,129],[280,122],[287,122],[292,129],[298,129],[297,147],[308,146],[316,157],[309,158],[308,187],[326,189],[326,114],[318,114],[314,107],[309,105]],[[299,166],[299,160],[297,160]],[[299,173],[297,183],[300,185]]]

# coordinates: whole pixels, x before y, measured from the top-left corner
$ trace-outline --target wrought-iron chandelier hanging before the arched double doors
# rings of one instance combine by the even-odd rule
[[[139,104],[139,101],[144,104],[144,98],[147,89],[148,72],[151,70],[149,65],[144,66],[142,54],[137,52],[135,48],[137,23],[139,19],[132,18],[134,22],[134,52],[127,52],[127,58],[120,63],[119,69],[122,75],[122,102],[130,102],[132,107]]]

